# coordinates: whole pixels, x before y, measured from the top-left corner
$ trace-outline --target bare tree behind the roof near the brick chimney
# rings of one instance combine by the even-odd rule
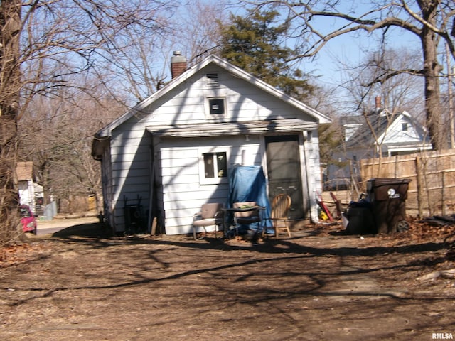
[[[169,64],[174,50],[183,51],[188,65],[213,52],[220,35],[218,23],[225,21],[228,6],[228,0],[176,4],[159,17],[160,30],[153,35],[127,28],[124,40],[128,43],[116,48],[114,63],[109,57],[108,63],[92,70],[113,98],[120,95],[124,99],[128,94],[129,104],[134,105],[170,80]],[[108,55],[111,54],[109,51]]]

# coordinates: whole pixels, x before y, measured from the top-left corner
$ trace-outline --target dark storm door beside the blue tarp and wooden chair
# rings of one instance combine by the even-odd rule
[[[292,200],[289,218],[303,219],[308,209],[302,194],[299,136],[266,136],[265,146],[270,204],[275,195],[286,193]]]

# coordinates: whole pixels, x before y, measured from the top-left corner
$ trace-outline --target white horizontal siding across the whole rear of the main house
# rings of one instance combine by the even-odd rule
[[[205,74],[217,72],[219,87],[206,87]],[[225,97],[227,116],[207,119],[208,97]],[[140,114],[127,119],[112,131],[109,194],[114,212],[112,222],[117,231],[124,229],[124,196],[141,197],[143,210],[149,209],[151,145],[154,151],[154,171],[158,191],[156,205],[161,210],[166,234],[192,231],[194,213],[206,202],[226,203],[228,179],[217,185],[201,185],[198,158],[208,150],[228,153],[228,172],[242,162],[245,165],[264,165],[264,140],[259,135],[238,135],[215,138],[151,138],[146,126],[198,124],[216,121],[253,121],[267,119],[301,119],[316,122],[314,117],[299,111],[287,102],[259,90],[255,85],[233,77],[216,65],[209,65],[181,82],[173,90],[153,102]],[[306,160],[302,174],[311,176],[311,203],[314,192],[321,188],[319,146],[316,132],[311,143],[305,144]],[[302,167],[302,168],[303,168]],[[304,193],[304,196],[307,196]],[[316,208],[314,209],[316,210]],[[145,212],[144,212],[145,213]],[[317,216],[317,215],[316,215]]]

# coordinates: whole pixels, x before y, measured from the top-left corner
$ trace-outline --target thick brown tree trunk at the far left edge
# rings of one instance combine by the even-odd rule
[[[16,139],[19,91],[21,87],[19,36],[21,0],[0,3],[0,242],[16,235],[18,192]]]

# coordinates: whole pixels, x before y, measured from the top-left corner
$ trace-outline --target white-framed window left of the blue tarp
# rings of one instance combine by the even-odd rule
[[[202,153],[199,162],[200,183],[220,183],[228,178],[228,156],[225,151]]]

